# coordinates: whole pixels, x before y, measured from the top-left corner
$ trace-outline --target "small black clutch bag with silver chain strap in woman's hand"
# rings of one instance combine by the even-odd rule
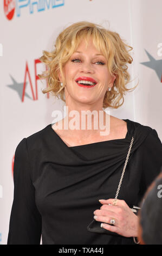
[[[131,148],[132,148],[132,144],[133,144],[133,140],[134,140],[134,138],[132,137],[131,144],[129,146],[128,154],[127,154],[127,157],[126,157],[125,165],[124,165],[124,168],[122,170],[121,178],[120,178],[120,181],[119,181],[118,189],[116,191],[116,196],[115,196],[114,202],[118,198],[121,182],[122,182],[122,179],[123,179],[123,176],[124,176],[124,173],[125,173],[126,165],[127,165],[128,158],[129,158],[129,154],[131,152]],[[138,212],[137,212],[138,209],[140,209],[138,206],[133,206],[133,208],[131,208],[131,210],[135,214],[138,214]],[[106,223],[106,224],[109,224],[109,223]],[[113,225],[113,224],[109,224],[109,225]],[[90,224],[87,227],[87,230],[90,231],[90,232],[94,232],[94,233],[101,233],[101,234],[109,234],[109,235],[121,236],[121,235],[119,235],[117,233],[114,233],[112,231],[109,231],[109,230],[107,230],[105,228],[101,228],[101,222],[96,221],[96,220],[93,220],[92,222],[90,222]]]

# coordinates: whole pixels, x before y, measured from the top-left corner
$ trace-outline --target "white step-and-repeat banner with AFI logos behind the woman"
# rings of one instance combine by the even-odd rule
[[[132,88],[119,109],[157,130],[162,139],[162,2],[161,0],[1,0],[0,1],[0,243],[6,244],[13,200],[13,167],[18,143],[53,123],[53,111],[64,102],[43,94],[46,68],[42,51],[54,48],[57,35],[77,21],[98,23],[118,32],[133,47],[129,66]]]

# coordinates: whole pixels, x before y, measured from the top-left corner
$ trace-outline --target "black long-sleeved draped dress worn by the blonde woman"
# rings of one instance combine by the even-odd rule
[[[159,174],[162,145],[157,132],[129,119],[124,139],[68,147],[47,125],[23,138],[14,162],[14,201],[8,245],[133,244],[132,237],[92,233],[87,226],[99,199],[114,198],[132,136],[118,199],[139,205]]]

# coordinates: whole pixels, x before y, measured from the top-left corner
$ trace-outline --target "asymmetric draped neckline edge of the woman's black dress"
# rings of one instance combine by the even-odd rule
[[[90,147],[90,146],[93,146],[93,145],[100,145],[101,143],[105,144],[105,143],[113,143],[113,142],[116,142],[116,141],[125,141],[127,139],[127,137],[129,136],[129,124],[130,123],[129,123],[129,119],[121,119],[121,120],[124,120],[127,123],[127,133],[126,133],[126,137],[125,138],[122,138],[122,139],[109,139],[108,141],[94,142],[94,143],[89,143],[89,144],[76,145],[76,146],[72,146],[72,147],[69,147],[66,143],[64,143],[64,141],[61,139],[61,137],[55,132],[55,130],[52,127],[52,125],[54,125],[55,123],[49,124],[48,126],[50,127],[51,132],[53,132],[53,134],[55,134],[57,136],[57,138],[59,138],[60,141],[64,145],[66,145],[67,148],[82,148],[82,147]]]

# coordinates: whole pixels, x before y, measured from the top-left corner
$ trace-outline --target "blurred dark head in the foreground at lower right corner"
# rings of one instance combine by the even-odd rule
[[[162,245],[162,167],[144,198],[139,213],[140,245]]]

